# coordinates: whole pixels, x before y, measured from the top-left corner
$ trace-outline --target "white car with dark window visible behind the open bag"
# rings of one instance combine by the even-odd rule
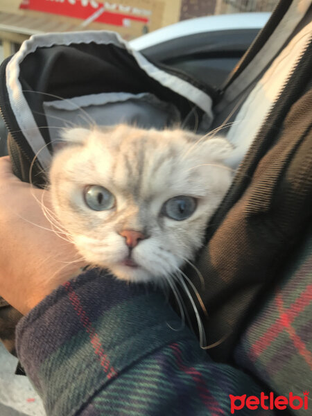
[[[138,37],[130,45],[218,89],[269,17],[266,12],[198,17]]]

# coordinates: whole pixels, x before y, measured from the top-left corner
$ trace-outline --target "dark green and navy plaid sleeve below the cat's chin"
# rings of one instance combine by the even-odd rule
[[[162,294],[88,271],[21,319],[17,352],[48,415],[227,416],[229,395],[259,397],[180,324]]]

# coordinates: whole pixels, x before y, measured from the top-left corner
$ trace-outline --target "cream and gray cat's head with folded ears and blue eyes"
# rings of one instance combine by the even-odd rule
[[[232,183],[226,139],[117,125],[65,129],[62,141],[53,207],[88,264],[161,283],[193,259]]]

